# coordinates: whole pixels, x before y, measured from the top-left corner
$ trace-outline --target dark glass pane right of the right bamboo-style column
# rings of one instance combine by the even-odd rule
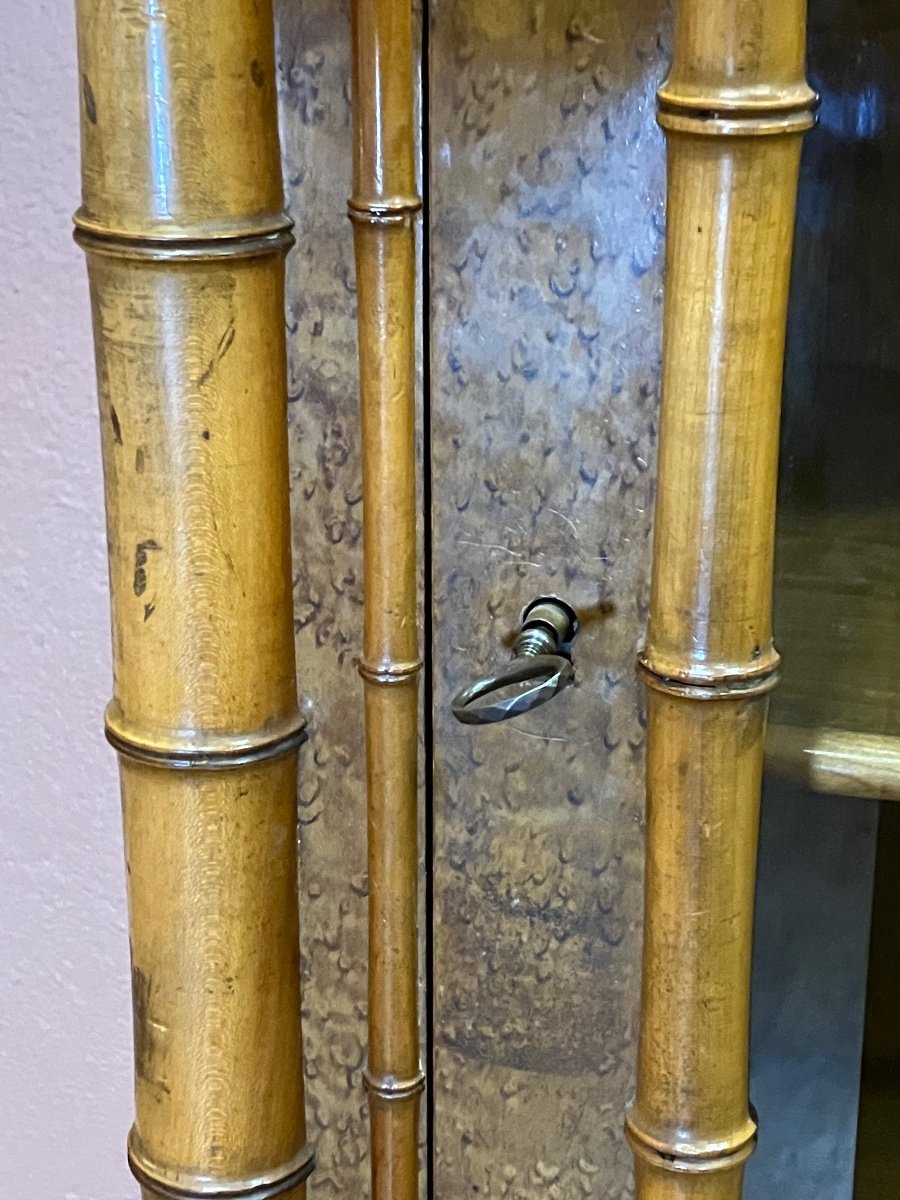
[[[900,7],[811,0],[785,371],[772,719],[900,734]],[[850,1200],[877,805],[770,779],[745,1200]],[[876,1193],[871,1193],[875,1195]],[[880,1192],[878,1195],[893,1194]],[[863,1196],[860,1194],[860,1200]]]

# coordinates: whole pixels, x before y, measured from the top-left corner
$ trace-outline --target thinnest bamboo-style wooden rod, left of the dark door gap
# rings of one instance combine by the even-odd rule
[[[353,0],[373,1200],[418,1194],[414,64],[409,0]]]

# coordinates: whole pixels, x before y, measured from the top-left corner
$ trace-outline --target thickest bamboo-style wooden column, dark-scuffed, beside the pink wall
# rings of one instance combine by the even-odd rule
[[[78,0],[145,1200],[300,1200],[282,214],[266,0]]]

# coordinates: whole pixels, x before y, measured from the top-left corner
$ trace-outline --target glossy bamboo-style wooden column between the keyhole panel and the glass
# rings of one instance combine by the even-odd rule
[[[679,0],[648,685],[638,1200],[738,1200],[804,0]]]

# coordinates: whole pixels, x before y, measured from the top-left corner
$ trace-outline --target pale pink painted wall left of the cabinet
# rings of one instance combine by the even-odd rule
[[[70,0],[0,14],[0,1195],[132,1200],[103,499],[71,239],[74,14]]]

